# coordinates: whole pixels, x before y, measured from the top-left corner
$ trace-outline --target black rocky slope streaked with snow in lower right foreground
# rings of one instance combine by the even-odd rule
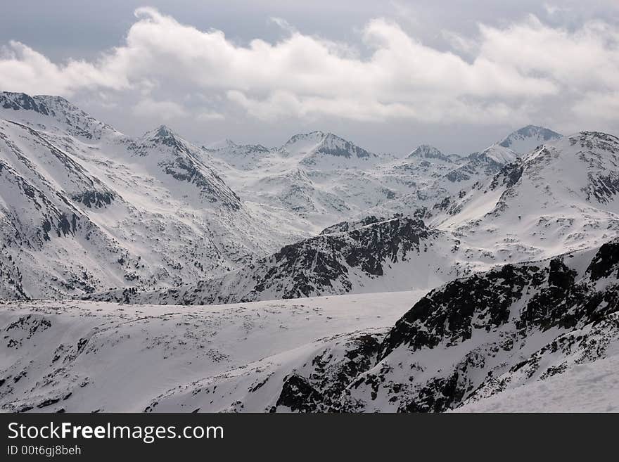
[[[286,378],[273,410],[442,412],[602,358],[619,345],[618,255],[614,240],[447,283]]]

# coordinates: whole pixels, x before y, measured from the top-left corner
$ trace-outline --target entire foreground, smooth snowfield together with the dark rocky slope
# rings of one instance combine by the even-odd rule
[[[531,393],[544,387],[564,387],[553,395],[560,406],[582,389],[580,375],[594,388],[568,409],[612,411],[618,250],[615,240],[506,265],[424,296],[211,307],[2,304],[0,406],[438,412],[492,411],[507,397],[505,409],[519,410],[539,405]]]

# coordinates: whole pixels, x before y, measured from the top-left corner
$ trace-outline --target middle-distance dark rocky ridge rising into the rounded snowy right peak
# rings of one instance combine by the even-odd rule
[[[583,132],[541,146],[420,217],[366,217],[225,276],[91,300],[210,304],[430,289],[495,264],[527,262],[619,236],[619,139]],[[424,218],[428,225],[421,219]]]

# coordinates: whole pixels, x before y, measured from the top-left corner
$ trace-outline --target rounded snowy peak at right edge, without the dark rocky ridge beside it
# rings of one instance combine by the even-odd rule
[[[470,248],[525,259],[600,245],[619,233],[618,171],[619,139],[582,132],[507,165],[430,223]]]

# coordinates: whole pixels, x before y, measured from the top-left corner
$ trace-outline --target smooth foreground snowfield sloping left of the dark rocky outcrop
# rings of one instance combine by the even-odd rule
[[[212,307],[0,304],[0,409],[144,411],[177,385],[263,358],[311,352],[320,338],[386,328],[421,295]],[[230,403],[222,400],[213,409],[224,404]]]

